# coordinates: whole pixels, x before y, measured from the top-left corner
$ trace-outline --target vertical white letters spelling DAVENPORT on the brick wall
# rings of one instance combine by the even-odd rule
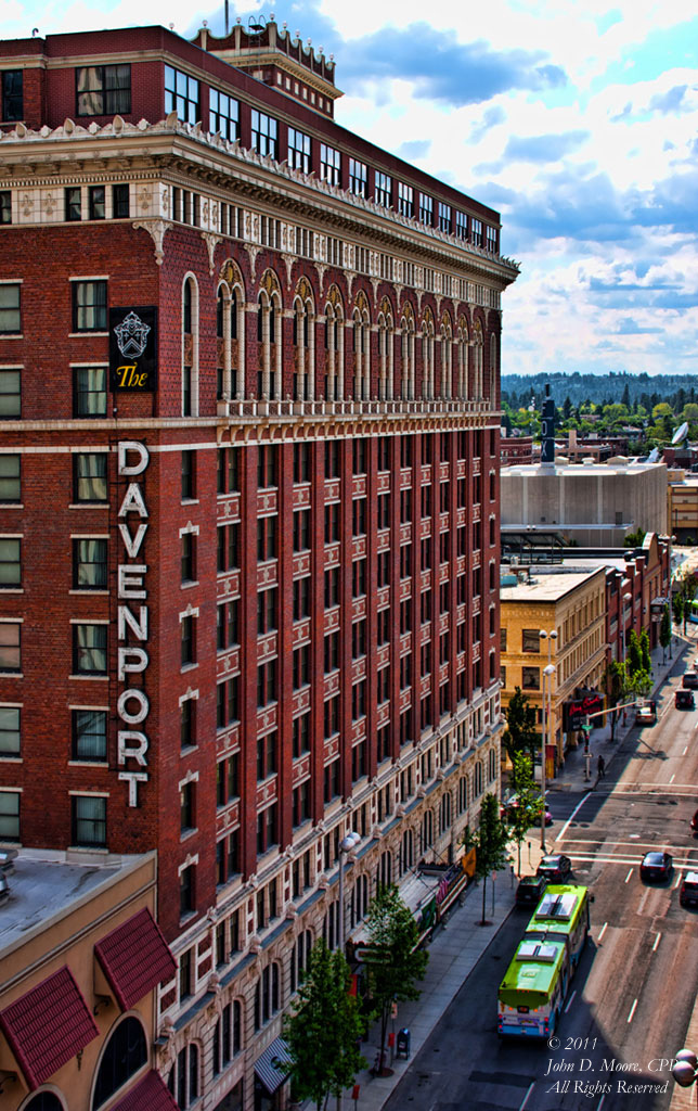
[[[148,782],[150,742],[145,723],[150,702],[145,693],[145,674],[150,659],[145,645],[149,637],[148,564],[142,562],[142,548],[149,527],[149,513],[143,491],[143,477],[150,454],[138,440],[120,440],[118,471],[129,479],[119,507],[119,532],[123,542],[117,570],[118,591],[118,680],[122,690],[117,702],[119,732],[117,755],[119,779],[129,784],[129,805],[139,804],[139,784]],[[134,641],[136,643],[134,643]],[[135,685],[133,677],[140,675]],[[133,685],[132,685],[133,683]]]

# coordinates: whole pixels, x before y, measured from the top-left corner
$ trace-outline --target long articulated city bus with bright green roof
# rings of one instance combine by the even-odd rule
[[[589,932],[589,892],[546,888],[498,991],[497,1033],[549,1038]]]

